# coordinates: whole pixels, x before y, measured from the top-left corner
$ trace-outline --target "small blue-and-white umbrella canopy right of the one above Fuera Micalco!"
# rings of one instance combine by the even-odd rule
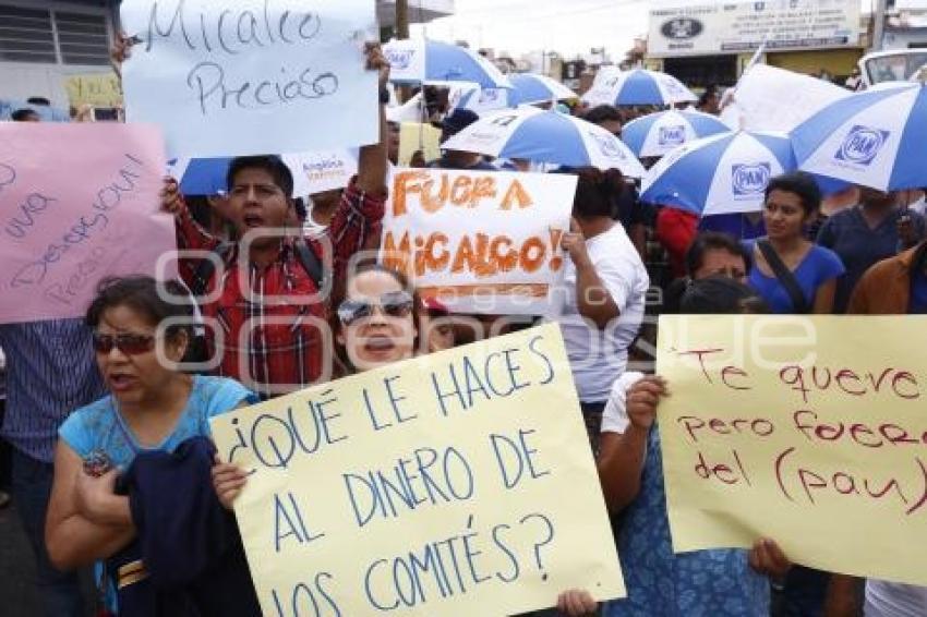
[[[683,144],[726,133],[727,125],[701,111],[658,111],[622,129],[622,141],[638,157],[664,156]]]

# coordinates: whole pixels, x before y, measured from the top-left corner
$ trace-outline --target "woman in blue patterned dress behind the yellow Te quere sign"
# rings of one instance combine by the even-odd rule
[[[759,305],[742,283],[711,277],[691,283],[682,312],[756,313]],[[628,592],[626,598],[609,602],[603,615],[767,617],[769,582],[761,574],[781,576],[788,569],[775,543],[760,540],[750,552],[673,553],[655,426],[657,407],[667,395],[660,377],[625,373],[615,382],[602,418],[599,476],[609,508],[625,516],[617,542]],[[570,606],[578,593],[565,594],[561,606]]]

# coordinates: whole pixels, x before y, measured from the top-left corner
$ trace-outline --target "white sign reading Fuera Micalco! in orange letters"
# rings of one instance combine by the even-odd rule
[[[382,258],[454,311],[552,314],[575,192],[566,174],[399,170]]]

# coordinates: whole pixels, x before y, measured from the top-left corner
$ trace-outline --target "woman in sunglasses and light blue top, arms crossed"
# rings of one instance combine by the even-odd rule
[[[164,283],[173,299],[183,287]],[[191,341],[191,306],[148,277],[106,279],[87,310],[108,396],[74,411],[59,431],[46,522],[52,564],[71,570],[106,559],[136,535],[117,475],[143,452],[173,451],[208,436],[208,418],[254,402],[232,379],[178,370]]]

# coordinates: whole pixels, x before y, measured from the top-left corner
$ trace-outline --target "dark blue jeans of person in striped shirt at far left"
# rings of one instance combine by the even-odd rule
[[[83,617],[84,603],[76,572],[51,566],[45,549],[45,515],[51,497],[55,467],[13,449],[13,500],[36,560],[36,586],[46,617]]]

